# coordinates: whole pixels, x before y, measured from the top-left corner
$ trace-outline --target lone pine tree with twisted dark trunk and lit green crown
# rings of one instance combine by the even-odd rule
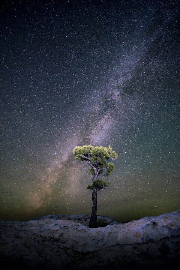
[[[109,176],[110,173],[114,170],[114,164],[111,162],[107,163],[108,159],[115,160],[118,155],[113,151],[112,147],[104,146],[92,146],[92,145],[83,145],[76,146],[73,149],[73,154],[76,156],[76,159],[80,159],[82,162],[89,164],[88,173],[92,177],[92,184],[88,185],[87,189],[92,190],[92,212],[89,222],[90,228],[96,228],[97,220],[97,191],[102,188],[109,187],[110,183],[106,183],[101,179],[97,179],[99,175]]]

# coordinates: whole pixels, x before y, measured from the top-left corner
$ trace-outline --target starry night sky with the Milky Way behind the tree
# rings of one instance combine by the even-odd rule
[[[0,219],[91,214],[83,144],[118,154],[97,214],[180,207],[180,1],[3,1]]]

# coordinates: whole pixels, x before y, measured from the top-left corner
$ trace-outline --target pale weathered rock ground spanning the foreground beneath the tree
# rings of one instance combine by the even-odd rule
[[[180,211],[119,224],[112,224],[110,217],[98,217],[99,223],[110,225],[95,229],[86,226],[89,217],[49,215],[26,222],[1,221],[1,266],[179,269]]]

